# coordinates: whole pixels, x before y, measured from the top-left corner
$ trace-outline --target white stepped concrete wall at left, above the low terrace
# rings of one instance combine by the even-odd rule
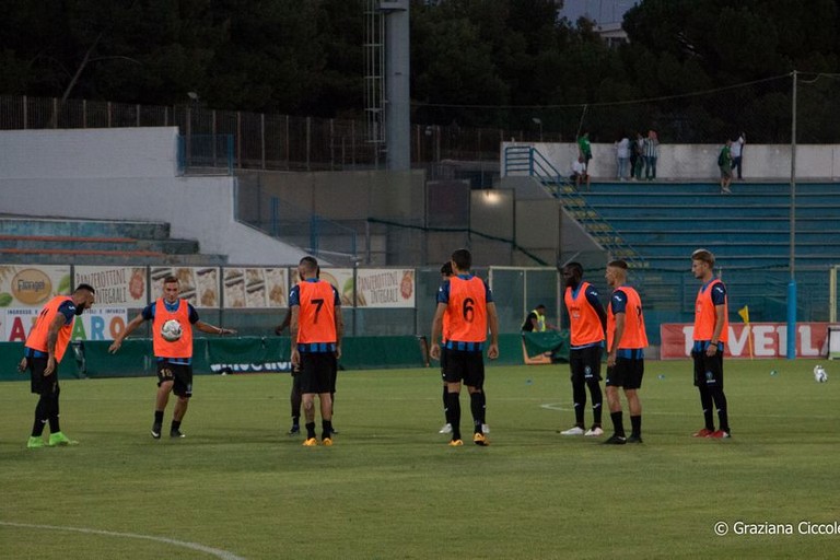
[[[176,139],[175,127],[0,132],[0,212],[168,222],[237,265],[305,256],[236,221],[234,177],[177,176]]]

